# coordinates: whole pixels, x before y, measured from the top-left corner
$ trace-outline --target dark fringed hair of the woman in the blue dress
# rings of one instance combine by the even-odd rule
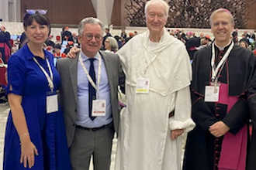
[[[41,15],[39,12],[36,12],[33,15],[30,15],[28,12],[24,15],[23,19],[23,26],[26,28],[27,26],[31,26],[33,20],[35,20],[40,25],[48,26],[50,30],[50,20],[48,19],[47,15]],[[50,32],[49,32],[50,35]]]

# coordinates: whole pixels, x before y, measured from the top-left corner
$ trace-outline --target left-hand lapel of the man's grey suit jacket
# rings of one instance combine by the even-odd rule
[[[74,100],[76,104],[78,104],[78,59],[79,54],[75,57],[75,59],[71,59],[71,62],[69,63],[69,73],[71,76],[71,84],[72,89],[74,92]]]

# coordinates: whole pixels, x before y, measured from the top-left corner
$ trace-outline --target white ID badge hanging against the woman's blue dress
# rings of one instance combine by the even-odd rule
[[[58,106],[57,93],[47,93],[47,114],[58,111]]]

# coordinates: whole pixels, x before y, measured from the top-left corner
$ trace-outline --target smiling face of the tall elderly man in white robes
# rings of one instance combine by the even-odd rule
[[[148,6],[146,13],[147,28],[150,32],[159,33],[167,22],[167,14],[165,14],[165,7],[161,3],[153,3]]]

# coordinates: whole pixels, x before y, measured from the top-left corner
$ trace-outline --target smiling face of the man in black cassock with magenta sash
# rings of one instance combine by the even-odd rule
[[[226,46],[230,42],[230,35],[233,30],[234,25],[227,12],[217,12],[213,16],[211,31],[218,46]]]

